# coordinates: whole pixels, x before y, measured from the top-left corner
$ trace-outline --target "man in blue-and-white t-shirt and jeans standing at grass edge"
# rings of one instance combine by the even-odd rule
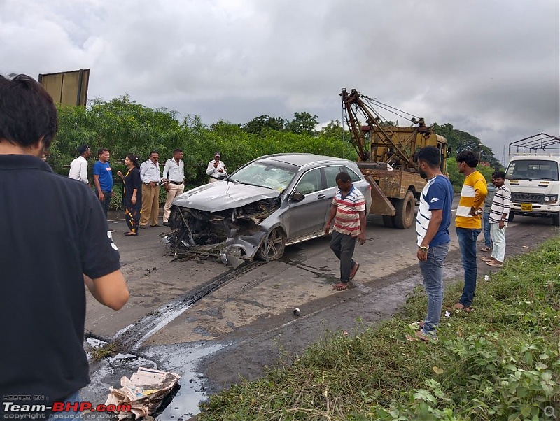
[[[424,289],[428,295],[428,314],[421,329],[410,341],[429,341],[435,338],[435,328],[440,323],[443,304],[443,261],[449,250],[449,224],[451,223],[451,203],[453,186],[440,171],[440,150],[435,146],[421,148],[416,154],[420,176],[427,179],[422,190],[416,234]]]

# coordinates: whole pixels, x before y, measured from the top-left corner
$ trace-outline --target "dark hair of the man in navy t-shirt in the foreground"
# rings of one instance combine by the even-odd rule
[[[43,138],[48,148],[57,131],[57,108],[45,88],[27,75],[0,75],[0,138],[20,146]]]

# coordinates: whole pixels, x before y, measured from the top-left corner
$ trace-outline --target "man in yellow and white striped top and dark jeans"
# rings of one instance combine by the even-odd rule
[[[457,206],[455,227],[461,248],[461,259],[465,271],[463,294],[454,308],[470,311],[477,288],[477,238],[482,222],[482,205],[488,189],[486,179],[477,171],[478,156],[471,150],[463,150],[457,155],[458,171],[465,176],[461,200]]]

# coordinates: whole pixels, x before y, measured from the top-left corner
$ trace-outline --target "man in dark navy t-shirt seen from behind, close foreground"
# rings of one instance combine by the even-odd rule
[[[90,382],[84,283],[115,310],[129,296],[99,201],[41,160],[57,129],[41,85],[0,76],[0,418],[77,399]]]

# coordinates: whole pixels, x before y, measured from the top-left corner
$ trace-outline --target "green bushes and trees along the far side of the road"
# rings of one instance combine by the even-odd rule
[[[115,177],[117,171],[125,171],[123,160],[127,154],[134,153],[144,161],[151,150],[158,150],[161,164],[165,164],[174,148],[181,148],[187,188],[207,183],[205,170],[216,150],[222,153],[230,173],[251,159],[272,153],[308,152],[351,160],[356,160],[358,156],[350,143],[348,131],[338,120],[317,130],[318,117],[304,111],[294,113],[293,120],[260,115],[245,124],[223,120],[204,124],[197,115],[181,118],[175,111],[148,108],[127,95],[111,101],[94,99],[87,107],[59,106],[58,110],[59,132],[50,147],[47,162],[56,173],[67,176],[78,146],[90,145],[90,180],[99,148],[111,151]],[[437,134],[447,137],[451,157],[469,148],[479,150],[482,161],[492,166],[498,164],[492,151],[478,138],[454,129],[451,124],[433,124],[433,128]],[[493,171],[490,167],[481,169],[486,178]],[[449,162],[449,178],[456,190],[460,190],[463,179],[452,159]],[[122,182],[118,178],[114,181],[115,196],[111,200],[111,208],[117,209],[121,205]],[[163,204],[165,192],[162,190],[160,193]]]

